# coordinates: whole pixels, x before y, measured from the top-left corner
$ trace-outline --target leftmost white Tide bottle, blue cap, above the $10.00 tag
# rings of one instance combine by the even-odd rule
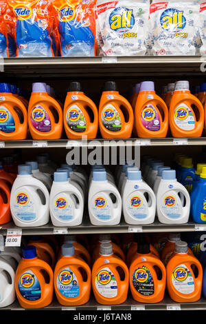
[[[49,221],[49,192],[32,176],[31,165],[19,165],[10,197],[12,219],[16,226],[34,227]]]

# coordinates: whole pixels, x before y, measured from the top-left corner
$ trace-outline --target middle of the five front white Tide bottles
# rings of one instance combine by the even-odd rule
[[[117,225],[121,219],[122,199],[104,170],[93,170],[88,197],[89,218],[93,225]]]

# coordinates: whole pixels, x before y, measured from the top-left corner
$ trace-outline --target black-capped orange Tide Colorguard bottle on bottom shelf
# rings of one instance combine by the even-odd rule
[[[130,264],[129,281],[135,301],[159,303],[163,300],[166,285],[165,266],[150,252],[148,243],[138,245]]]

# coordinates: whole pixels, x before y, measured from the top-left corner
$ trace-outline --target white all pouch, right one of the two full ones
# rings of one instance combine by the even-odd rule
[[[150,6],[150,37],[153,55],[195,55],[198,33],[198,1],[153,1]]]

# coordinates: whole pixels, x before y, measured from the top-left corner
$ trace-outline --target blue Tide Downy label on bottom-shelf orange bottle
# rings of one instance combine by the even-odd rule
[[[69,267],[65,267],[59,272],[56,285],[60,294],[67,298],[75,298],[80,294],[80,286],[76,275]]]

